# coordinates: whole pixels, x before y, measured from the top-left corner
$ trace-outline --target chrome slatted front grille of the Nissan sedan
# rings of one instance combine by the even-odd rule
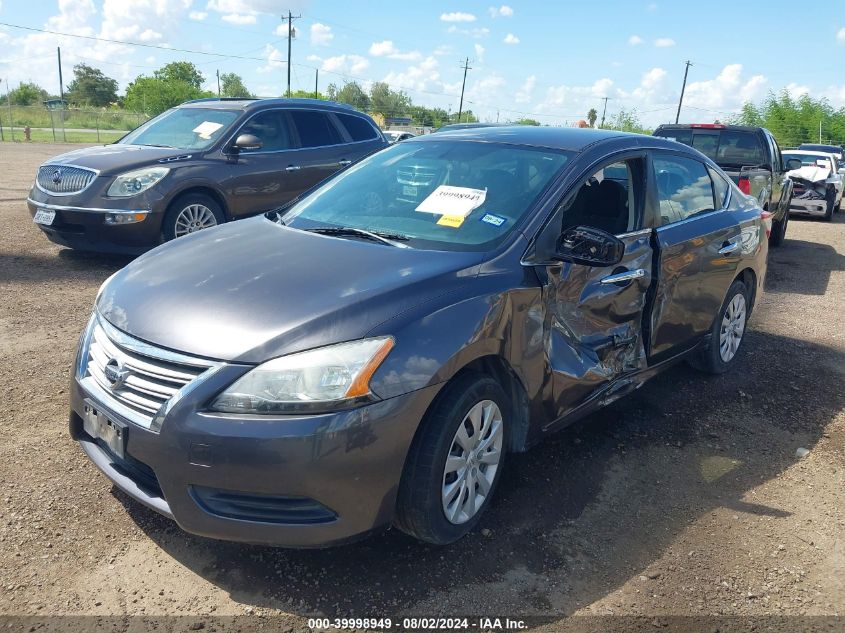
[[[103,405],[145,428],[180,389],[216,366],[211,361],[157,349],[99,320],[87,347],[83,386],[105,400]],[[119,381],[106,376],[109,363],[119,368]]]

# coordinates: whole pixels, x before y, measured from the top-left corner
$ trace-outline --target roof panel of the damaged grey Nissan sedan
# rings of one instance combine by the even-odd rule
[[[427,142],[455,139],[462,141],[486,141],[489,143],[510,143],[514,145],[529,145],[549,147],[569,151],[580,151],[611,138],[641,137],[640,134],[617,132],[614,130],[595,130],[591,128],[573,127],[538,127],[534,125],[510,125],[496,127],[477,127],[463,130],[442,130],[436,134],[427,134],[408,139],[408,142]],[[652,139],[653,137],[645,137]]]

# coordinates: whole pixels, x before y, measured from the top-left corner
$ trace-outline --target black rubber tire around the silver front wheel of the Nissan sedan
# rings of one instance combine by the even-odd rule
[[[502,417],[502,441],[498,467],[493,482],[475,515],[463,523],[453,523],[443,506],[446,458],[453,450],[455,434],[470,410],[490,400],[499,407]],[[511,405],[498,382],[475,372],[459,376],[444,388],[426,413],[417,437],[408,453],[396,501],[394,525],[427,543],[446,545],[470,532],[490,505],[502,475],[508,446]],[[454,453],[452,453],[454,455]],[[481,466],[479,465],[479,469]],[[473,483],[473,490],[479,484]],[[461,491],[458,497],[464,497]]]

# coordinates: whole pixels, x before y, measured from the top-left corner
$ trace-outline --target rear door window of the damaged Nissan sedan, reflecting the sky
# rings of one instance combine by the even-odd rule
[[[714,210],[713,181],[707,168],[682,156],[654,159],[661,224],[685,220]]]

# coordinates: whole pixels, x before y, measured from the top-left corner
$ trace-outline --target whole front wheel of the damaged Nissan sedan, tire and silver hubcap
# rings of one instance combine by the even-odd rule
[[[445,545],[478,523],[502,474],[510,402],[499,383],[465,374],[426,414],[408,454],[396,526]]]

